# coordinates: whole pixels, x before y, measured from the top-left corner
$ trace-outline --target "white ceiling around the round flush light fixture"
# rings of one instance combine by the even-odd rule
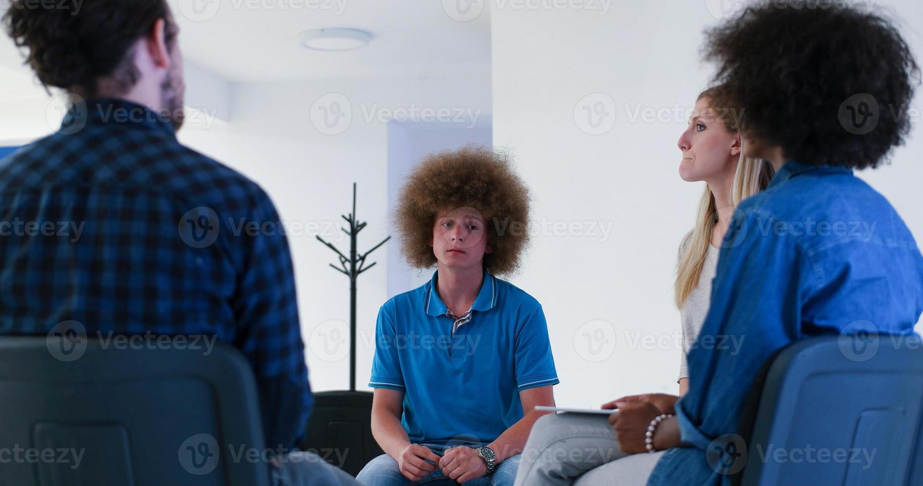
[[[469,21],[444,9],[468,0],[210,1],[217,4],[170,0],[183,53],[232,81],[426,76],[490,65],[489,8]],[[365,49],[340,53],[297,41],[304,30],[333,27],[367,30],[373,38]]]

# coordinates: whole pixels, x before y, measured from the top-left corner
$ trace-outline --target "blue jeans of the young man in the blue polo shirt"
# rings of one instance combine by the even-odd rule
[[[426,445],[436,453],[442,456],[446,449],[455,445],[440,444],[421,444]],[[474,447],[474,445],[468,445]],[[431,461],[427,461],[432,464]],[[511,456],[507,460],[497,464],[497,470],[493,474],[484,478],[475,478],[466,481],[465,486],[512,486],[513,480],[516,479],[516,470],[519,468],[520,455]],[[442,474],[442,469],[436,469],[429,473],[422,480],[412,481],[403,477],[397,461],[387,454],[382,454],[371,462],[366,464],[365,468],[359,471],[355,477],[364,486],[408,486],[410,484],[424,484],[426,486],[456,486],[458,483]]]

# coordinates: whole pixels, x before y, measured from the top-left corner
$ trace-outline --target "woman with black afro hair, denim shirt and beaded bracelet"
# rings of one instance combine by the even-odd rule
[[[689,390],[675,402],[619,403],[609,421],[628,456],[583,474],[579,486],[732,484],[747,463],[745,400],[777,351],[822,335],[913,336],[923,312],[913,235],[853,174],[878,166],[909,128],[901,108],[919,69],[893,24],[820,0],[773,0],[710,30],[705,52],[723,85],[714,102],[743,113],[744,156],[769,160],[776,172],[728,225],[689,351]],[[857,397],[826,395],[818,407]],[[826,411],[805,409],[802,421],[822,421]],[[810,462],[805,468],[816,468]],[[849,464],[825,466],[845,477]],[[869,466],[868,477],[883,477],[890,464]]]

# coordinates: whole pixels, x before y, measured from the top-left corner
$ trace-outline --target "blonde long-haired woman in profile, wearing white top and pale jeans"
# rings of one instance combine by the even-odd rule
[[[679,176],[688,182],[705,182],[695,227],[679,248],[675,301],[683,332],[683,356],[679,393],[689,388],[686,355],[698,337],[708,311],[718,251],[739,202],[764,189],[773,178],[772,166],[764,160],[741,157],[742,141],[737,131],[740,113],[712,106],[718,88],[706,89],[696,101],[689,126],[679,136],[682,151]],[[603,409],[645,400],[673,413],[679,397],[665,394],[635,395],[612,400]],[[648,423],[617,421],[616,416],[548,415],[535,422],[522,454],[516,486],[569,485],[580,478],[580,486],[609,485],[613,478],[643,483],[660,453],[629,456],[617,437],[622,430],[633,433]],[[623,459],[624,457],[624,459]],[[621,459],[621,460],[616,460]],[[637,475],[643,477],[634,478]]]

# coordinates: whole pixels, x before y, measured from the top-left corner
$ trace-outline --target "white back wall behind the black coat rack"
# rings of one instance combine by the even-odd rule
[[[485,73],[236,84],[229,123],[216,123],[207,129],[192,126],[180,132],[181,142],[262,185],[282,219],[301,223],[304,228],[300,234],[290,234],[289,243],[306,360],[315,391],[349,386],[349,280],[328,266],[337,263],[336,254],[319,243],[316,234],[344,253],[349,251],[349,239],[341,231],[345,224],[341,215],[352,210],[353,182],[358,184],[359,219],[368,221],[359,233],[359,251],[368,250],[390,234],[390,115],[426,122],[426,109],[448,108],[478,112],[489,120],[489,86]],[[330,110],[337,110],[335,102],[340,103],[339,113],[350,116],[336,123],[329,117],[332,126],[328,126],[323,109],[333,113]],[[360,390],[367,389],[376,316],[378,307],[390,298],[387,276],[390,253],[396,250],[392,242],[376,250],[368,263],[377,261],[378,265],[358,281],[356,382]]]

